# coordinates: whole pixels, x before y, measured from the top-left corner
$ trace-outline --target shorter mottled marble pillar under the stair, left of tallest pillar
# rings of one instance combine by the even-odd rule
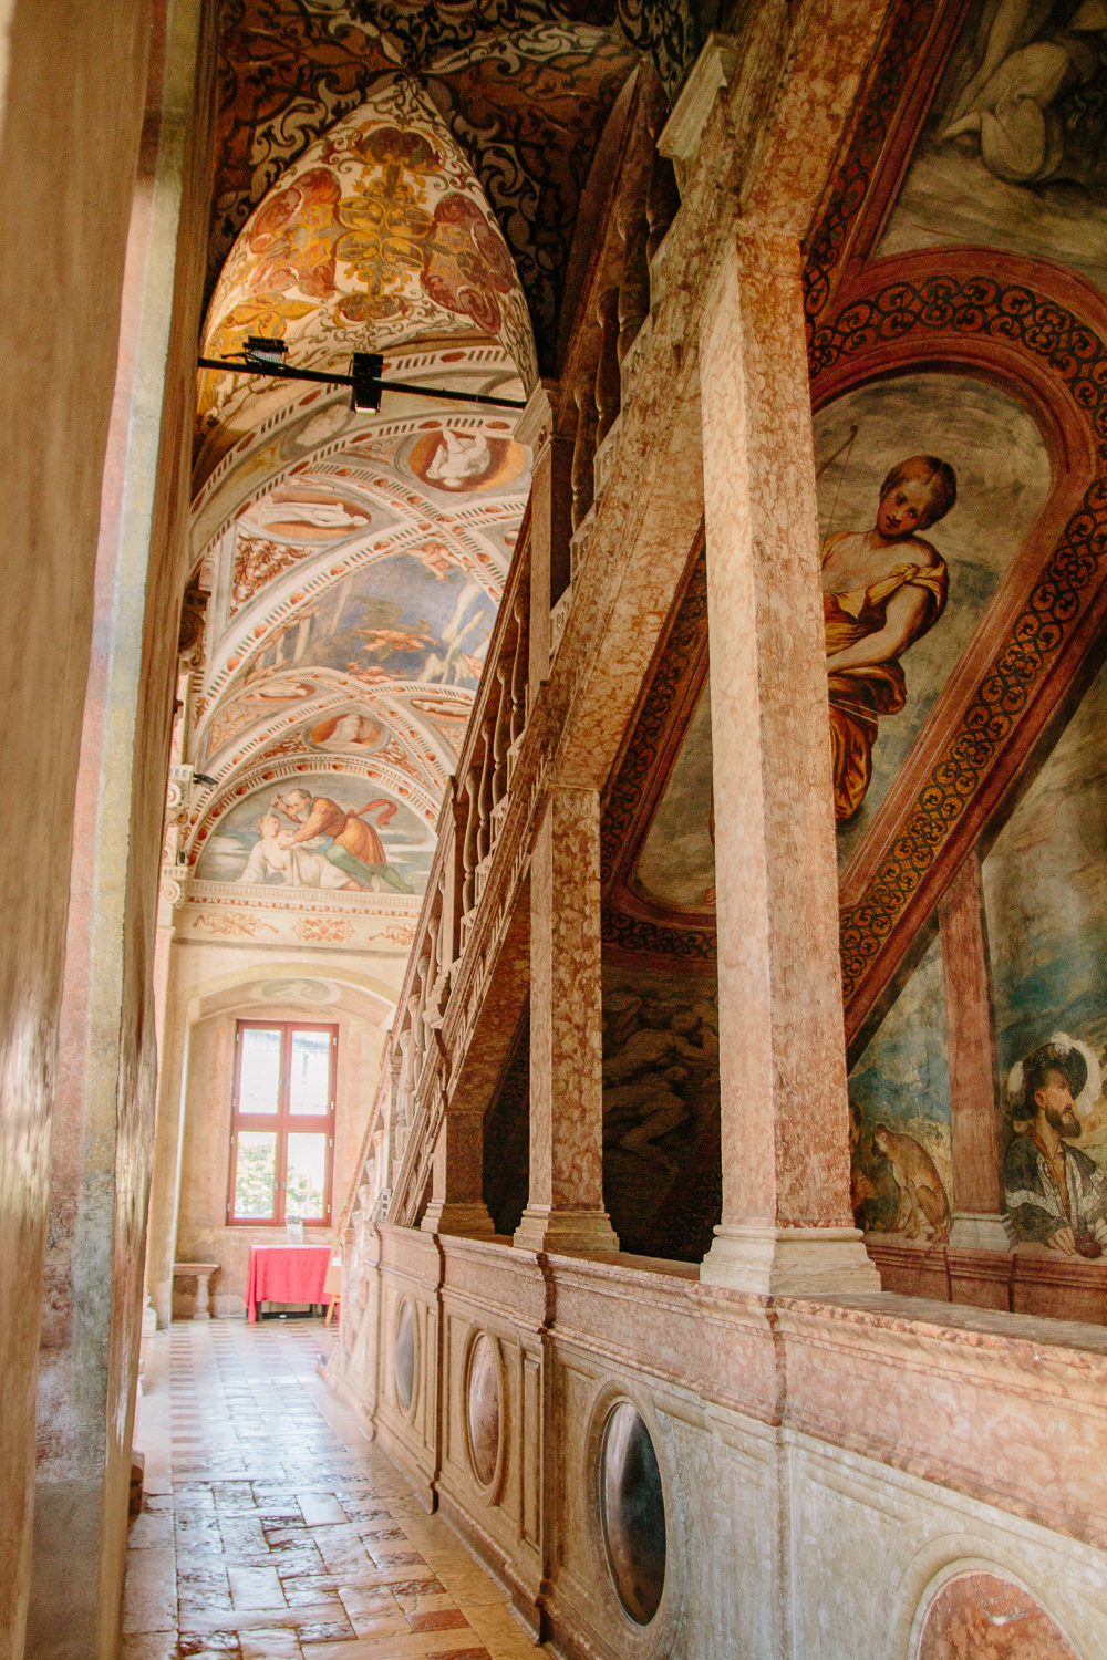
[[[514,1243],[616,1252],[604,1210],[599,793],[554,784],[531,855],[531,1189]]]

